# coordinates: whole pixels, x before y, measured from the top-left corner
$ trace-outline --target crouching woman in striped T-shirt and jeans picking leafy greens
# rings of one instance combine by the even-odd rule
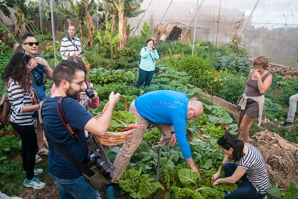
[[[224,134],[219,138],[218,147],[226,156],[223,160],[223,170],[225,178],[219,178],[221,175],[221,166],[218,172],[212,177],[213,186],[218,183],[236,183],[241,180],[235,191],[224,191],[224,196],[230,198],[242,199],[260,199],[267,195],[266,189],[270,188],[268,174],[264,159],[254,146],[249,143],[243,143],[235,135]],[[229,160],[238,162],[238,164],[229,163]]]

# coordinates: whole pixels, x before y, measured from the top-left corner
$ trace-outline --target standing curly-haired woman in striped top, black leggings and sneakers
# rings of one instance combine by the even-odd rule
[[[31,70],[31,57],[26,53],[18,52],[8,63],[3,79],[7,84],[7,95],[11,103],[10,124],[22,140],[23,173],[26,173],[24,186],[41,189],[46,184],[34,177],[34,175],[42,173],[43,170],[34,169],[38,144],[33,125],[35,123],[33,113],[40,104],[37,93],[31,84]]]

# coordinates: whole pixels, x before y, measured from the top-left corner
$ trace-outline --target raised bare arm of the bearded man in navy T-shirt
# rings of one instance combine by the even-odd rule
[[[97,136],[104,135],[111,123],[114,106],[117,104],[119,96],[119,93],[114,94],[114,92],[111,92],[109,96],[109,105],[105,112],[97,120],[91,118],[84,129]]]

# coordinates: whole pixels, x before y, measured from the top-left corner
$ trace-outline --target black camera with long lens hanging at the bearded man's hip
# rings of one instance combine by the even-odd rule
[[[86,158],[85,164],[89,168],[92,165],[95,165],[107,180],[109,180],[111,173],[114,172],[116,169],[113,165],[110,165],[103,158],[103,154],[100,152],[99,149],[93,149],[91,151],[91,154],[89,154]]]

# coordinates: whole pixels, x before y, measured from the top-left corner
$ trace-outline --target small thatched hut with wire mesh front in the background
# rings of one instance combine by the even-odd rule
[[[187,25],[182,24],[180,22],[167,22],[164,24],[160,23],[160,24],[157,24],[153,29],[154,33],[157,33],[157,35],[154,36],[153,39],[156,42],[166,41],[166,39],[170,39],[172,41],[177,40],[177,39],[179,39],[178,37],[181,35],[181,30],[184,30],[184,31],[182,31],[182,35],[183,35],[186,28],[187,28]],[[179,34],[175,31],[173,32],[173,30],[175,30],[175,29],[180,30]],[[189,29],[189,31],[190,31],[190,29]],[[170,35],[171,33],[173,35]],[[170,36],[170,38],[169,38],[169,36]],[[177,37],[177,38],[175,38],[175,37]],[[181,37],[182,36],[180,36],[180,38]]]

